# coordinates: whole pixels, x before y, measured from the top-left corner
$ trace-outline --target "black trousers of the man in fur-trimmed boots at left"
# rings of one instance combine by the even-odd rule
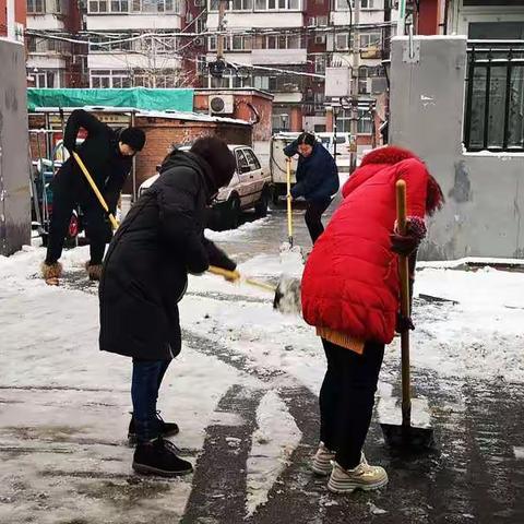
[[[73,210],[79,205],[78,198],[71,194],[69,188],[57,183],[52,188],[52,213],[49,225],[46,263],[52,264],[62,255],[63,243],[68,235],[69,224]],[[110,240],[111,231],[105,219],[104,211],[97,202],[80,202],[85,221],[85,231],[90,239],[90,263],[102,264],[106,243]]]

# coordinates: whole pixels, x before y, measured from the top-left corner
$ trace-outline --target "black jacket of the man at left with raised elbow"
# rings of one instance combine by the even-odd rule
[[[87,138],[76,147],[80,128],[87,131]],[[132,157],[120,154],[119,135],[120,130],[111,129],[83,109],[75,109],[68,119],[63,136],[63,145],[69,151],[76,151],[112,213],[133,165]],[[60,186],[80,204],[100,205],[72,157],[58,170],[52,183]]]

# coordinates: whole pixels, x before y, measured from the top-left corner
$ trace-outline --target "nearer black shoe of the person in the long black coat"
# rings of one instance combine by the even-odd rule
[[[134,451],[133,469],[144,475],[160,477],[176,477],[192,473],[192,464],[179,458],[177,451],[171,442],[162,437],[151,442],[140,442]]]

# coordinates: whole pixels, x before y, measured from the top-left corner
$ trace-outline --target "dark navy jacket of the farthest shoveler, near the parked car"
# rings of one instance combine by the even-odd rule
[[[298,153],[298,141],[290,143],[284,154]],[[297,183],[291,189],[294,199],[303,196],[311,202],[331,199],[340,188],[338,169],[330,152],[320,143],[314,144],[311,156],[298,157]]]

